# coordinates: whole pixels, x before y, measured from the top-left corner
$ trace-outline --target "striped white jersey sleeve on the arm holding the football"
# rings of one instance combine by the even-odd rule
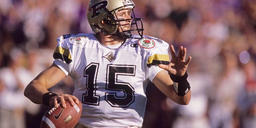
[[[54,64],[56,64],[68,76],[72,63],[72,53],[68,42],[71,35],[63,35],[57,38],[57,46],[53,53]]]

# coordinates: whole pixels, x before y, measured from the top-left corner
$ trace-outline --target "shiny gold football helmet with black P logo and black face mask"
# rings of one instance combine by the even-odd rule
[[[134,6],[135,4],[132,0],[90,0],[87,7],[87,19],[92,31],[94,33],[102,32],[104,34],[116,35],[122,39],[142,38],[144,30],[142,18],[135,18],[133,11]],[[116,12],[125,8],[132,8],[131,19],[125,19],[132,20],[131,28],[120,32],[120,30],[118,30],[118,26],[120,26],[120,22],[124,20],[118,20],[116,18]],[[102,21],[106,24],[102,25]],[[137,22],[140,22],[140,26]],[[132,31],[137,31],[139,37],[132,37]]]

